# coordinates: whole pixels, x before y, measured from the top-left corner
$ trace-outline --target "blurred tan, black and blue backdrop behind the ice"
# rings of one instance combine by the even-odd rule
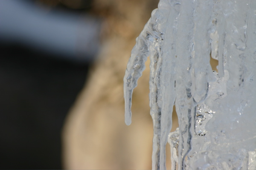
[[[130,126],[122,79],[158,1],[0,1],[0,169],[151,169],[148,66]]]

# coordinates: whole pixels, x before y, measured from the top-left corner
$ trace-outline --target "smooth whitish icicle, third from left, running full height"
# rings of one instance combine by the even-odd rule
[[[160,125],[160,170],[166,169],[166,143],[172,129],[172,109],[175,102],[175,51],[177,40],[177,20],[180,14],[180,1],[170,2],[171,9],[167,20],[163,43],[163,62],[160,87],[162,92]],[[166,81],[168,80],[168,81]]]

